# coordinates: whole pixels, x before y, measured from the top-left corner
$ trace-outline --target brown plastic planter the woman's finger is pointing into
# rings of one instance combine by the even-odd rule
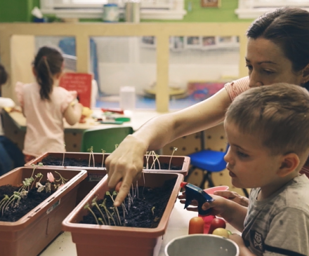
[[[164,215],[158,227],[153,229],[79,223],[82,217],[88,214],[88,210],[84,209],[86,203],[91,204],[92,199],[96,196],[98,196],[98,199],[102,199],[108,190],[107,177],[103,178],[63,221],[63,230],[72,233],[72,240],[76,243],[77,247],[77,255],[157,255],[162,243],[162,236],[166,232],[169,217],[180,190],[180,182],[183,180],[183,175],[179,173],[145,172],[147,187],[161,187],[166,180],[174,177],[177,177],[177,181],[173,187]],[[138,180],[138,184],[143,186],[143,177]]]

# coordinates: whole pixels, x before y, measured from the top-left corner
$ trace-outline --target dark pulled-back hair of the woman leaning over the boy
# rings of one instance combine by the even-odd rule
[[[294,72],[309,64],[309,13],[301,8],[278,8],[256,19],[246,32],[248,38],[268,39],[282,48]],[[309,88],[309,81],[303,85]]]

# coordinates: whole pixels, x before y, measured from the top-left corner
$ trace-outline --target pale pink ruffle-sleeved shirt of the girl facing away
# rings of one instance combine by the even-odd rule
[[[15,93],[27,119],[23,153],[39,156],[47,151],[65,151],[63,116],[76,91],[53,87],[51,101],[41,100],[37,83],[16,83]]]

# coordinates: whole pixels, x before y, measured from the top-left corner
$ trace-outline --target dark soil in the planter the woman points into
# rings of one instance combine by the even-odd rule
[[[137,191],[132,192],[131,195],[134,194],[133,204],[129,207],[129,198],[126,197],[124,201],[124,206],[128,213],[126,213],[124,217],[124,210],[121,206],[118,207],[119,217],[121,220],[121,225],[117,224],[116,214],[113,215],[114,221],[110,220],[110,226],[123,226],[123,227],[144,227],[144,228],[155,228],[158,226],[164,210],[166,208],[167,203],[169,202],[169,198],[171,196],[171,192],[173,191],[173,187],[176,183],[176,178],[172,180],[167,180],[164,182],[162,187],[150,188],[150,187],[138,187]],[[112,194],[112,193],[111,193]],[[110,213],[113,213],[113,202],[110,196],[105,195],[107,209],[110,210]],[[98,205],[103,203],[103,200],[97,201]],[[91,207],[91,206],[89,206]],[[103,214],[105,215],[105,220],[107,220],[106,212],[103,208],[100,208]],[[91,207],[93,213],[95,213],[96,217],[102,218],[98,208],[96,206]],[[103,219],[103,218],[102,218]],[[89,212],[88,215],[83,217],[80,223],[84,224],[97,224],[96,219]]]

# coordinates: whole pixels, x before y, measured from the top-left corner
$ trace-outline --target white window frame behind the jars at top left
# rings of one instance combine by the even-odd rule
[[[58,18],[102,18],[103,4],[118,4],[124,13],[126,0],[40,0],[44,14]],[[182,20],[186,14],[184,0],[140,0],[140,18],[156,20]]]

